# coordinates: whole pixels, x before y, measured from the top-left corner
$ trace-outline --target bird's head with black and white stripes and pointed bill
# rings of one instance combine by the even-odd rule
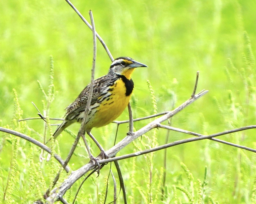
[[[112,62],[110,66],[110,72],[114,72],[118,75],[124,75],[127,79],[130,80],[131,75],[136,67],[147,66],[146,64],[137,62],[130,57],[118,57]]]

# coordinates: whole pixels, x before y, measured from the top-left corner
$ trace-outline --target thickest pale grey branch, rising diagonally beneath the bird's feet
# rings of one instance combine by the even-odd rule
[[[124,147],[126,147],[128,144],[130,144],[133,140],[135,140],[136,138],[140,137],[142,134],[150,131],[153,128],[157,127],[157,124],[160,122],[163,122],[165,120],[167,120],[168,118],[172,117],[173,115],[177,114],[178,112],[180,112],[181,110],[183,110],[186,106],[188,106],[189,104],[191,104],[192,102],[194,102],[195,100],[199,99],[200,97],[202,97],[203,95],[205,95],[208,91],[201,91],[199,94],[196,94],[195,97],[188,99],[186,102],[184,102],[183,104],[181,104],[179,107],[177,107],[176,109],[174,109],[173,111],[170,111],[169,113],[167,113],[166,115],[161,116],[160,118],[157,118],[156,120],[150,122],[149,124],[147,124],[146,126],[142,127],[141,129],[139,129],[138,131],[136,131],[134,133],[133,136],[126,136],[123,140],[121,140],[118,144],[116,144],[114,147],[110,148],[109,150],[106,151],[106,153],[112,157],[114,155],[116,155],[117,152],[119,152],[121,149],[123,149]],[[199,140],[199,139],[204,139],[202,137],[196,138],[195,140]],[[194,140],[194,139],[193,139]],[[193,141],[192,140],[192,141]],[[100,158],[100,157],[98,157]],[[112,158],[110,158],[112,159]],[[99,163],[101,164],[105,164],[106,162],[110,161],[110,159],[106,159],[106,160],[100,160]],[[111,161],[114,161],[116,159],[113,159]],[[58,189],[58,191],[56,191],[56,189],[54,189],[52,191],[52,194],[49,198],[47,198],[48,202],[53,202],[54,200],[58,200],[59,197],[62,197],[66,191],[79,179],[81,178],[86,172],[88,172],[89,170],[93,169],[95,165],[93,165],[92,163],[88,163],[82,167],[80,167],[79,169],[77,169],[76,171],[73,171],[72,174],[66,179],[64,180],[64,182],[61,184],[61,186]]]

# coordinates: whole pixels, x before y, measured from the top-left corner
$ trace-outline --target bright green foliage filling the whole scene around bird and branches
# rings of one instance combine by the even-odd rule
[[[175,115],[174,127],[207,134],[255,124],[256,11],[251,1],[96,0],[77,1],[76,6],[86,19],[87,11],[93,10],[97,32],[115,57],[130,56],[149,66],[133,74],[135,90],[130,103],[135,118],[168,111],[184,102],[199,70],[198,91],[208,89],[209,94]],[[64,1],[3,1],[0,12],[0,126],[44,142],[55,129],[50,118],[62,117],[63,109],[89,83],[91,31]],[[107,73],[110,60],[100,45],[97,53],[99,77]],[[49,55],[55,61],[53,64],[51,56],[50,70],[45,68]],[[37,112],[46,122],[18,122],[37,117]],[[124,111],[119,120],[127,119],[128,111]],[[135,122],[134,127],[140,129],[151,120]],[[65,158],[78,129],[74,124],[68,133],[52,140],[52,154]],[[117,141],[127,130],[127,124],[119,126]],[[92,131],[105,149],[112,147],[116,124]],[[164,130],[152,130],[120,154],[163,144],[165,135]],[[184,137],[170,132],[169,142]],[[256,147],[255,130],[220,139]],[[97,155],[97,147],[90,139],[88,142]],[[0,203],[32,203],[35,197],[42,198],[61,169],[53,157],[46,161],[47,156],[23,139],[0,133]],[[120,166],[128,203],[249,204],[256,201],[255,160],[251,152],[205,140],[168,149],[166,169],[162,167],[163,151],[120,161]],[[87,162],[80,142],[69,166],[74,170]],[[112,171],[117,178],[114,168]],[[86,180],[75,203],[103,203],[107,174],[105,166],[98,178],[93,175]],[[62,171],[58,184],[66,176]],[[64,195],[69,203],[79,184]],[[110,192],[112,180],[107,202],[113,200]],[[123,202],[121,195],[118,199]]]

